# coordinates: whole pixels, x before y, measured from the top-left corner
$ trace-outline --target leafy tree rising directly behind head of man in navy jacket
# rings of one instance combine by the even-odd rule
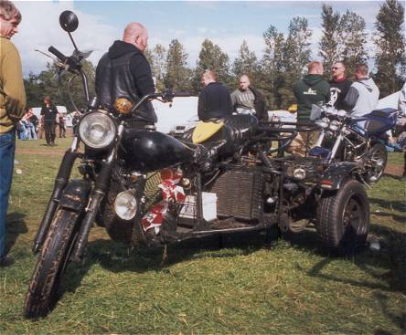
[[[193,93],[198,94],[201,90],[201,75],[206,69],[217,74],[217,79],[226,85],[230,85],[230,63],[229,56],[221,51],[221,48],[205,39],[198,54],[198,62],[192,79]]]

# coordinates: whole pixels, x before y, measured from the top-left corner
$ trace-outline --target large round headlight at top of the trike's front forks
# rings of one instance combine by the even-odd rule
[[[103,149],[112,144],[117,132],[112,118],[102,111],[83,116],[79,123],[79,136],[92,149]]]

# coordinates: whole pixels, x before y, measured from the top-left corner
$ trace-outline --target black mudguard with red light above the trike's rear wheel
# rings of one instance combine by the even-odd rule
[[[353,178],[353,172],[358,169],[355,162],[336,162],[331,164],[323,173],[321,188],[338,190],[348,178]]]

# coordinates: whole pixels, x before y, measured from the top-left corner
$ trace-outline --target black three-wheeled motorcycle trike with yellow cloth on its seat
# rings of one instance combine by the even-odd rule
[[[59,21],[69,35],[78,26],[71,12]],[[67,58],[53,47],[49,51],[83,77],[78,52]],[[85,79],[83,84],[87,92]],[[83,259],[93,223],[144,251],[272,226],[299,232],[305,227],[300,220],[315,223],[332,250],[363,246],[369,201],[355,164],[283,157],[297,135],[294,128],[281,134],[281,125],[261,124],[251,115],[199,122],[181,140],[153,127],[131,127],[144,101],[185,95],[149,94],[136,104],[121,98],[110,109],[91,100],[34,241],[39,255],[25,300],[27,318],[45,316],[55,306],[63,274],[69,263]],[[279,145],[272,149],[272,142]],[[77,159],[81,178],[71,180]]]

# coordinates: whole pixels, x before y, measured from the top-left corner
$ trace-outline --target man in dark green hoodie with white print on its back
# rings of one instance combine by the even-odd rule
[[[330,85],[323,79],[323,64],[318,61],[307,65],[307,75],[294,86],[297,99],[297,120],[307,121],[313,104],[326,104],[330,99]]]

